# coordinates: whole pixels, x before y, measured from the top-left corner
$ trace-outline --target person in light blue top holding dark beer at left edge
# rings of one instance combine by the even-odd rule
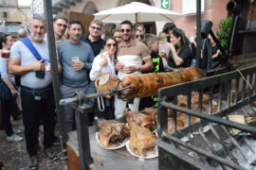
[[[18,96],[17,89],[15,87],[15,79],[13,75],[9,74],[8,61],[9,61],[9,50],[11,45],[14,43],[13,38],[10,35],[4,35],[0,38],[0,74],[1,86],[5,86],[6,92],[1,93],[2,101],[2,123],[7,135],[7,141],[21,141],[23,138],[17,135],[21,130],[12,128],[10,124],[10,113],[17,109],[16,97]],[[1,88],[4,90],[4,88]],[[2,96],[5,93],[5,96]]]

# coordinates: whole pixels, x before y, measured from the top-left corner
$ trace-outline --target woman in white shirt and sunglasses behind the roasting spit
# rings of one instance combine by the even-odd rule
[[[108,38],[104,44],[105,52],[99,54],[94,60],[90,72],[90,79],[94,81],[103,73],[108,73],[112,80],[118,80],[115,70],[115,59],[117,57],[118,42],[114,38]],[[101,106],[101,99],[95,103],[94,112],[95,116],[104,119],[115,119],[114,116],[114,97],[103,97],[103,107]]]

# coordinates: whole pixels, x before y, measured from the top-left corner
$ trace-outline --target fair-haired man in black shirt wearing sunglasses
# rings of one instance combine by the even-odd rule
[[[92,47],[95,57],[104,48],[104,41],[101,39],[102,27],[103,23],[100,20],[93,20],[89,26],[89,34],[81,39]]]

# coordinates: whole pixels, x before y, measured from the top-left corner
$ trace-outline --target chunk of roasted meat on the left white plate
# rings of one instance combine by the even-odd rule
[[[129,128],[123,123],[115,120],[100,120],[98,126],[99,141],[103,147],[116,147],[129,139]]]

